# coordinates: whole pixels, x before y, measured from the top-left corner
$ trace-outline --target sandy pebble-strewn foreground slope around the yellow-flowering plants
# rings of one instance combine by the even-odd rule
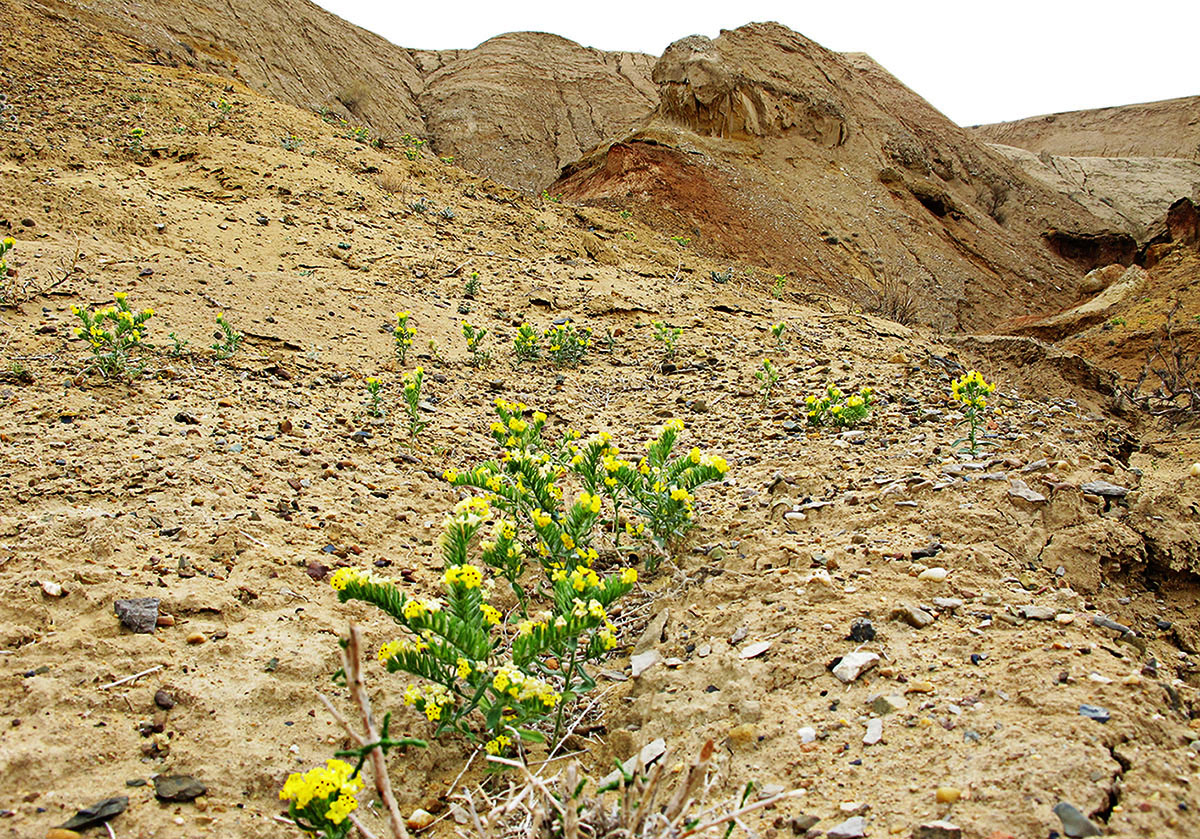
[[[936,817],[970,837],[1043,835],[1062,829],[1061,802],[1112,835],[1200,832],[1194,429],[1112,413],[1114,377],[1078,355],[863,314],[797,275],[778,298],[769,277],[716,282],[727,262],[647,223],[661,220],[636,194],[608,196],[611,209],[541,202],[430,152],[374,148],[257,85],[155,62],[55,8],[0,4],[2,50],[22,56],[0,65],[0,234],[16,240],[20,296],[0,310],[0,833],[52,835],[79,808],[127,796],[121,837],[300,835],[277,820],[284,779],[348,745],[316,695],[350,713],[331,678],[337,639],[348,619],[372,651],[397,631],[340,605],[329,577],[370,568],[440,592],[438,534],[461,497],[444,471],[496,455],[496,397],[546,412],[554,439],[608,431],[630,456],[678,418],[685,445],[730,465],[697,492],[698,527],[659,570],[642,567],[616,616],[600,699],[564,743],[586,772],[656,738],[680,760],[712,739],[719,789],[804,790],[749,819],[776,837],[853,817],[870,837]],[[962,230],[983,221],[965,196],[983,157],[925,158],[954,175],[940,188],[962,208],[938,222],[953,235],[937,234],[913,221],[929,212],[913,193],[864,198],[857,170],[835,166],[838,120],[851,149],[871,121],[857,95],[838,116],[788,84],[797,148],[830,155],[808,188],[829,191],[821,206],[847,202],[805,222],[841,224],[818,253],[856,232],[882,239],[876,215],[910,239],[973,241]],[[716,144],[744,156],[754,142],[658,131],[686,136],[710,169]],[[898,190],[942,182],[913,160],[893,163]],[[1040,253],[1038,224],[1012,223],[989,282]],[[1170,270],[1195,259],[1180,230],[1159,253]],[[913,245],[911,264],[966,282],[961,248],[944,247]],[[1030,282],[1070,276],[1051,256],[1030,259]],[[980,293],[1043,299],[1006,288]],[[114,292],[154,308],[155,350],[131,383],[89,372],[73,331],[72,307]],[[403,366],[401,310],[418,329]],[[223,360],[210,349],[217,314],[245,334]],[[587,364],[514,364],[518,324],[563,318],[593,330]],[[469,364],[463,319],[491,331],[490,365]],[[666,364],[654,320],[684,330]],[[782,347],[768,331],[779,322]],[[768,354],[781,378],[764,400],[754,373]],[[415,443],[400,407],[414,364],[430,421]],[[1003,409],[977,456],[955,448],[964,416],[949,398],[967,367],[998,384]],[[367,376],[382,380],[382,418],[367,414]],[[874,388],[869,420],[806,426],[804,397],[828,384]],[[122,628],[114,601],[136,597],[160,599],[156,631]],[[658,652],[636,676],[635,648]],[[830,665],[851,652],[878,658],[842,681]],[[373,655],[368,687],[395,730],[430,735]],[[473,751],[448,738],[394,754],[404,814],[444,816],[430,833],[450,835],[452,793],[503,784],[478,755],[460,774]],[[155,780],[168,775],[205,793],[163,802]],[[361,815],[383,835],[368,799]]]

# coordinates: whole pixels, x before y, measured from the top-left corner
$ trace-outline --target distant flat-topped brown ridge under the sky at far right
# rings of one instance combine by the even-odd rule
[[[989,143],[1074,157],[1200,160],[1200,96],[974,126]]]

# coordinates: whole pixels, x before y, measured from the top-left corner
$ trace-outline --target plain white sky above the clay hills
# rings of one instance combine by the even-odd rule
[[[864,52],[961,125],[1200,95],[1200,0],[317,0],[401,47],[503,32],[660,55],[686,35],[778,20]]]

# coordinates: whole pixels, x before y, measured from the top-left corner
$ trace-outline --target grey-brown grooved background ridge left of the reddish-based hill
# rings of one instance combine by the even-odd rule
[[[502,35],[474,49],[414,50],[307,0],[37,4],[43,13],[119,32],[146,60],[239,79],[384,140],[425,137],[438,155],[527,190],[629,131],[658,101],[650,56],[544,32]]]

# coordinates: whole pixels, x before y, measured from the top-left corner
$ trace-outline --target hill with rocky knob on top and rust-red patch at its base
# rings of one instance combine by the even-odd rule
[[[1057,308],[1080,266],[1109,260],[1102,221],[866,56],[752,24],[672,44],[654,80],[643,127],[552,191],[654,217],[804,288],[911,293],[922,319],[950,328]]]

